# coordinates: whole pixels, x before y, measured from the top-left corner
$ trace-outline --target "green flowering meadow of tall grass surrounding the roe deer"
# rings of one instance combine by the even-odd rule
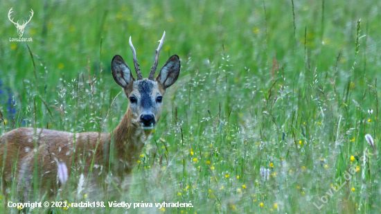
[[[10,8],[20,22],[33,9],[23,36],[33,42],[10,42]],[[1,1],[0,134],[112,132],[128,100],[111,60],[133,67],[129,37],[145,78],[164,30],[159,68],[181,58],[117,201],[193,207],[28,212],[381,213],[379,9],[364,0]],[[57,201],[109,202],[70,177]],[[0,213],[18,213],[5,194]],[[17,200],[15,186],[7,194]]]

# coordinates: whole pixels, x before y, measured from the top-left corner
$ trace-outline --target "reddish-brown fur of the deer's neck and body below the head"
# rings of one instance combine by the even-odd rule
[[[161,84],[158,87],[159,91],[165,92]],[[125,92],[128,93],[128,91]],[[156,115],[156,118],[159,120],[160,115]],[[150,134],[150,131],[145,131],[139,125],[132,123],[134,120],[136,118],[129,106],[121,123],[112,134],[83,132],[74,135],[70,132],[35,130],[33,128],[12,130],[1,136],[0,139],[0,160],[3,160],[4,154],[6,154],[4,165],[3,161],[0,161],[0,168],[3,168],[3,184],[10,184],[16,175],[16,178],[19,179],[19,188],[24,188],[24,198],[27,197],[28,191],[26,190],[30,189],[35,160],[37,160],[41,184],[44,184],[44,188],[52,190],[50,192],[53,193],[57,188],[55,185],[57,184],[55,158],[67,165],[69,175],[72,170],[71,164],[74,163],[73,168],[78,168],[77,163],[85,159],[82,164],[83,173],[87,177],[94,156],[94,165],[102,166],[103,172],[106,172],[107,175],[111,140],[115,153],[114,160],[111,160],[110,170],[113,175],[117,175],[121,179],[125,176],[127,176],[125,179],[130,179],[132,168],[136,165],[145,145],[144,142]],[[74,143],[74,136],[76,143]],[[76,153],[73,155],[74,148]],[[35,159],[36,155],[37,159]],[[86,157],[84,158],[84,156]],[[92,172],[94,175],[92,180],[98,181],[100,168],[93,168]]]

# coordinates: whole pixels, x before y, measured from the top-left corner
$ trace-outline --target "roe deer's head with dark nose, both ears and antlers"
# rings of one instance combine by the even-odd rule
[[[172,55],[169,60],[161,68],[159,75],[154,79],[154,73],[159,62],[159,53],[163,46],[163,37],[159,40],[159,48],[156,50],[154,65],[151,68],[148,79],[143,79],[138,60],[136,60],[136,51],[131,42],[134,67],[137,80],[132,75],[131,69],[120,55],[115,55],[112,59],[112,75],[116,83],[118,83],[130,100],[127,112],[130,111],[131,123],[143,130],[152,130],[154,125],[159,121],[161,109],[163,107],[163,96],[166,89],[174,84],[180,73],[180,59],[178,55]]]

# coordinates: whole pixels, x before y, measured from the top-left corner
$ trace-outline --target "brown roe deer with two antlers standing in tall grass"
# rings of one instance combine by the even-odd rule
[[[18,128],[1,136],[2,190],[4,185],[13,179],[17,182],[19,193],[23,193],[24,199],[27,199],[30,186],[34,184],[33,172],[37,170],[37,179],[51,195],[57,190],[57,168],[62,164],[67,170],[65,172],[67,175],[71,175],[73,170],[73,172],[85,174],[85,177],[92,172],[91,175],[94,176],[89,176],[89,179],[94,181],[100,181],[99,177],[102,176],[99,175],[108,173],[117,179],[130,180],[132,168],[139,159],[145,141],[159,121],[163,95],[179,77],[179,56],[172,55],[154,79],[165,36],[164,31],[148,79],[142,78],[131,37],[130,46],[137,80],[134,79],[131,69],[120,55],[115,55],[112,59],[114,80],[123,88],[130,100],[121,123],[112,133],[73,134],[54,130]],[[113,152],[112,155],[110,152]],[[127,184],[126,189],[129,185]]]

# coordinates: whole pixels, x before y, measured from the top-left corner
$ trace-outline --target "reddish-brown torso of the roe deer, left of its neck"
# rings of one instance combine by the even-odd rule
[[[76,139],[75,142],[74,139]],[[3,157],[6,154],[5,164],[1,166],[3,168],[3,186],[10,181],[15,181],[14,178],[17,179],[18,188],[26,198],[33,181],[33,172],[37,170],[41,184],[48,187],[48,190],[54,190],[54,184],[57,181],[55,159],[58,158],[69,166],[70,173],[73,158],[77,163],[77,161],[82,160],[82,155],[88,155],[91,150],[95,151],[94,140],[97,141],[97,139],[98,133],[96,132],[72,134],[54,130],[34,130],[33,128],[12,130],[1,138],[0,156]],[[100,134],[100,139],[102,140],[99,145],[102,146],[109,139],[109,134]],[[73,155],[74,150],[78,155]],[[102,155],[103,151],[97,149],[96,156],[101,157]],[[35,160],[38,169],[35,169]],[[88,169],[91,164],[89,163],[91,157],[87,157],[85,160],[85,163],[82,164],[85,169]]]

